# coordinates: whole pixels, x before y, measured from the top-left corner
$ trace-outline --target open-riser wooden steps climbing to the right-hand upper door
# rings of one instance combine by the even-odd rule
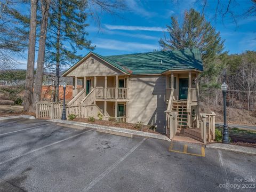
[[[172,111],[178,112],[178,129],[187,128],[188,113],[187,113],[187,101],[173,101]]]

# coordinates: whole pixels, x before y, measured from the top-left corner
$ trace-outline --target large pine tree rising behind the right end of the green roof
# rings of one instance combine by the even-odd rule
[[[192,49],[198,48],[202,53],[204,73],[207,75],[207,84],[214,84],[217,76],[215,59],[223,51],[223,43],[220,33],[207,22],[204,15],[194,9],[185,12],[182,25],[179,25],[177,18],[171,18],[171,26],[167,25],[169,37],[161,38],[159,45],[162,50]]]

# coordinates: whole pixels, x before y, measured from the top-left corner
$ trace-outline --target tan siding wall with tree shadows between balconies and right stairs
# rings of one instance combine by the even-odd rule
[[[131,76],[129,80],[128,121],[157,125],[158,132],[164,133],[165,76]]]

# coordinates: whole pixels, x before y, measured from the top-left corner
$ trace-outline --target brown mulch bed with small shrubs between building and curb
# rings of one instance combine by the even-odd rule
[[[104,120],[97,120],[97,119],[95,119],[94,122],[90,122],[90,121],[88,121],[87,118],[75,118],[75,119],[73,119],[73,121],[96,124],[96,125],[103,125],[103,126],[120,127],[120,128],[130,129],[130,130],[160,134],[153,130],[149,130],[147,125],[142,125],[141,129],[135,129],[133,123],[118,123],[118,122],[114,122],[114,121],[104,121]]]

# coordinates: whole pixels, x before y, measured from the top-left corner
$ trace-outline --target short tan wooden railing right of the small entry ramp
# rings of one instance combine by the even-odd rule
[[[215,113],[211,112],[211,114],[200,114],[201,120],[199,121],[200,129],[201,129],[201,138],[204,143],[212,142],[215,139]],[[207,121],[209,122],[207,124]]]

